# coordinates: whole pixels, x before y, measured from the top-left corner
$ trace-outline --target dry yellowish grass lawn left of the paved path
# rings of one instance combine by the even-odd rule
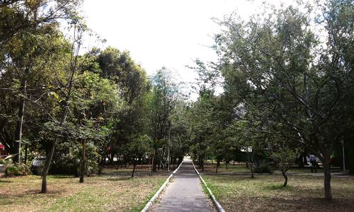
[[[141,211],[166,180],[154,177],[49,176],[40,194],[39,176],[0,178],[0,211]]]

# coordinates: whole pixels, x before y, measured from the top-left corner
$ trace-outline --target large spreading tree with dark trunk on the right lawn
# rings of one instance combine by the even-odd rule
[[[329,157],[351,124],[341,111],[353,86],[351,8],[350,1],[329,1],[316,21],[311,6],[307,13],[290,6],[249,22],[231,17],[216,36],[226,88],[257,111],[251,116],[259,123],[254,131],[314,151],[324,163],[328,200]],[[239,94],[242,90],[246,93]]]

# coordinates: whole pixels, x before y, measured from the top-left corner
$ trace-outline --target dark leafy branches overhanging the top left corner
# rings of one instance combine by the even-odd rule
[[[80,4],[80,0],[0,1],[0,49],[13,37],[21,37],[41,25],[56,23],[59,19],[76,20],[76,8]]]

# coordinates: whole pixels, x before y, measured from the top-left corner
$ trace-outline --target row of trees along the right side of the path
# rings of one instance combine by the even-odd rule
[[[295,158],[313,153],[332,199],[329,158],[343,142],[353,151],[352,1],[299,4],[247,21],[232,15],[219,25],[219,61],[195,67],[200,97],[191,110],[198,118],[192,141],[200,166],[209,149],[218,163],[242,150],[251,172],[256,153],[278,163],[287,179]]]

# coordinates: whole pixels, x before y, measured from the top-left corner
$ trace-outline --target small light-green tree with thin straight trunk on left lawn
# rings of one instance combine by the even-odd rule
[[[74,139],[81,140],[82,158],[80,182],[84,182],[87,141],[98,141],[96,134],[101,131],[101,125],[118,114],[121,107],[120,95],[113,81],[101,78],[98,73],[84,71],[76,76],[72,93],[72,122],[79,130],[73,134]]]

